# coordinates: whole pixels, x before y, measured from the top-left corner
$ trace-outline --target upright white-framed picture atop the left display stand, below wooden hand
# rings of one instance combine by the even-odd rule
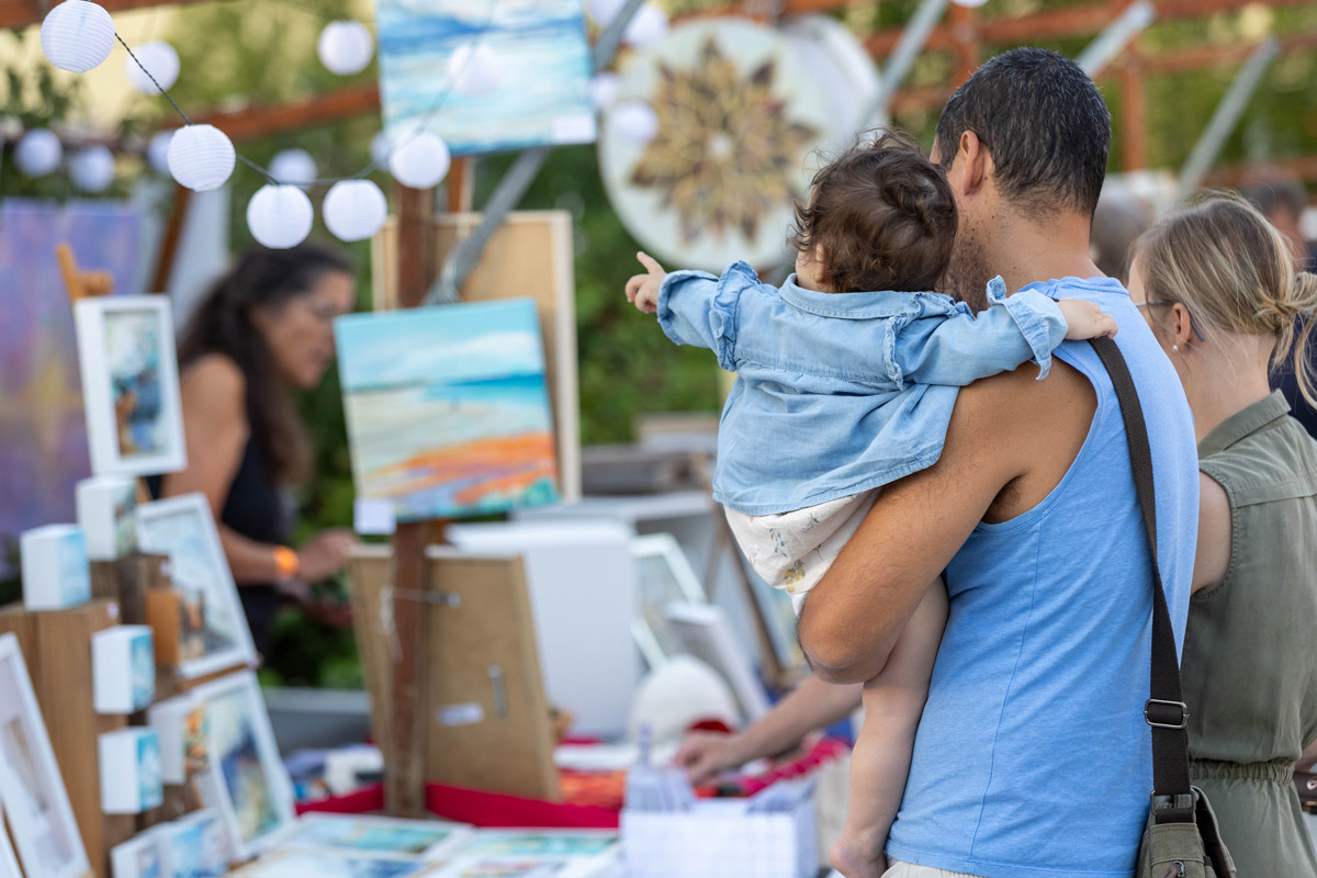
[[[83,299],[74,305],[74,323],[92,473],[159,475],[186,469],[169,299]]]

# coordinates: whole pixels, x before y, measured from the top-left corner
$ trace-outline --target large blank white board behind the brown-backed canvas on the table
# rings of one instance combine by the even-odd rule
[[[544,691],[576,717],[581,735],[627,728],[641,667],[633,533],[618,521],[470,524],[448,529],[452,544],[478,554],[523,555]]]

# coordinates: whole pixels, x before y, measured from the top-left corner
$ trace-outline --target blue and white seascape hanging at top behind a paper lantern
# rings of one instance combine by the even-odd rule
[[[443,137],[454,155],[594,142],[581,0],[379,0],[378,24],[394,143],[417,129]],[[497,76],[457,90],[449,59],[468,46],[493,59]]]

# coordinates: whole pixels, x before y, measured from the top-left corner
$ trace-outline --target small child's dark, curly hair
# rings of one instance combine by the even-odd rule
[[[909,138],[861,141],[814,175],[792,244],[822,250],[831,292],[934,290],[951,262],[956,201],[946,171]]]

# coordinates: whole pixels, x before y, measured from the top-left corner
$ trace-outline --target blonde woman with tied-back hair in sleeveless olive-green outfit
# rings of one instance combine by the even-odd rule
[[[1317,877],[1291,774],[1317,740],[1317,442],[1267,375],[1306,348],[1317,278],[1247,203],[1216,196],[1144,234],[1130,295],[1193,409],[1201,517],[1181,659],[1192,775],[1242,878]]]

